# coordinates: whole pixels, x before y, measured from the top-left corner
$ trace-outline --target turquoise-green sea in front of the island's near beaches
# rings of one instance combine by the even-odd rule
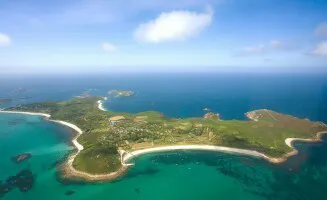
[[[324,199],[327,194],[323,189],[327,185],[325,143],[299,143],[300,156],[279,166],[220,152],[148,154],[136,158],[135,167],[115,182],[67,184],[57,178],[53,163],[71,151],[66,143],[70,130],[40,117],[17,114],[0,114],[0,127],[0,180],[22,169],[35,175],[31,190],[14,189],[2,197],[5,200]],[[24,152],[32,157],[19,164],[11,161]],[[67,196],[67,191],[74,193]]]

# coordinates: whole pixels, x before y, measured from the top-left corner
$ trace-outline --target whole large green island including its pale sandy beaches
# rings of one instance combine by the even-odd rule
[[[134,156],[179,149],[246,154],[279,163],[296,154],[292,141],[318,141],[327,132],[321,122],[262,109],[250,119],[167,118],[154,111],[137,114],[99,109],[102,97],[76,98],[10,107],[0,112],[44,116],[76,130],[75,151],[62,166],[62,177],[86,181],[113,180],[126,172]]]

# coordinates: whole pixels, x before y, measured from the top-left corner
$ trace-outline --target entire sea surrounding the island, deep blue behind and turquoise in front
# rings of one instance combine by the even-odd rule
[[[324,74],[101,74],[0,77],[0,108],[74,96],[108,96],[112,89],[135,95],[109,98],[106,109],[155,110],[175,118],[201,117],[203,109],[222,119],[245,119],[267,108],[327,123]],[[71,130],[37,116],[0,114],[1,184],[20,170],[35,177],[31,190],[14,188],[4,200],[326,200],[327,142],[300,143],[299,155],[281,165],[220,152],[178,151],[140,156],[126,176],[110,183],[68,184],[54,164],[72,151]],[[16,164],[12,156],[30,152]],[[70,192],[67,195],[67,192]]]

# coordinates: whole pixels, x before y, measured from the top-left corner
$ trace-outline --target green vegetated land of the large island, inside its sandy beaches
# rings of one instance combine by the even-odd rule
[[[117,150],[135,150],[164,145],[207,144],[251,149],[280,157],[291,149],[289,137],[314,138],[327,131],[320,122],[310,122],[270,110],[250,112],[256,121],[217,118],[167,118],[158,112],[138,114],[101,111],[101,97],[76,98],[66,102],[43,102],[8,108],[12,111],[43,112],[52,119],[73,123],[83,130],[78,142],[84,150],[74,167],[89,173],[108,173],[120,167]]]

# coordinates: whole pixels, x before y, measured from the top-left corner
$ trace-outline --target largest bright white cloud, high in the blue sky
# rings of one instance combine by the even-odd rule
[[[150,43],[186,40],[201,33],[211,24],[212,18],[211,8],[203,13],[186,10],[164,12],[156,19],[141,24],[134,37]]]

